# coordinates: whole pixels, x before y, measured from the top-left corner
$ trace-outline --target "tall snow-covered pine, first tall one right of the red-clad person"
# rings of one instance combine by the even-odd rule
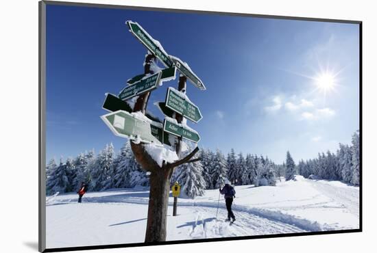
[[[112,143],[106,144],[106,147],[101,150],[95,159],[93,169],[91,171],[92,181],[90,182],[90,189],[93,191],[100,191],[104,189],[104,184],[108,180],[108,171],[111,168],[114,160],[114,146]]]

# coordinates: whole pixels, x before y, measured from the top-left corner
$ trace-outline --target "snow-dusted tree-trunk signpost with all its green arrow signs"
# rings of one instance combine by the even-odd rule
[[[110,113],[101,118],[115,135],[130,139],[136,161],[143,170],[150,172],[145,242],[165,241],[171,176],[179,165],[199,161],[198,158],[193,159],[199,148],[196,147],[189,155],[178,161],[163,161],[160,165],[148,154],[145,144],[170,148],[175,150],[177,156],[180,157],[182,139],[199,142],[199,134],[183,122],[183,118],[188,118],[195,123],[203,118],[199,107],[186,96],[186,79],[189,79],[200,90],[206,90],[206,87],[188,64],[182,62],[178,57],[168,55],[160,42],[152,38],[141,25],[132,21],[126,21],[126,25],[148,50],[143,64],[144,74],[128,79],[129,86],[123,88],[119,96],[106,94],[103,108]],[[155,59],[160,60],[167,68],[154,72],[151,69],[151,64],[156,64]],[[162,124],[161,120],[154,119],[146,113],[147,102],[150,92],[158,88],[160,82],[175,78],[175,70],[179,70],[182,74],[178,81],[178,90],[169,88],[165,103],[157,104],[166,116],[164,124]],[[135,96],[137,96],[134,99],[136,102],[127,103],[130,98]],[[173,185],[172,191],[174,196],[173,215],[176,215],[180,185],[178,183]]]

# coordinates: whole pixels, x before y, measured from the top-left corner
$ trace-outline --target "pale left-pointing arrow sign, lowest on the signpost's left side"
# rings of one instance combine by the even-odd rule
[[[162,128],[161,123],[151,124],[147,120],[141,120],[127,111],[114,111],[101,116],[101,119],[104,120],[114,135],[130,139],[139,137],[141,142],[162,144],[160,142],[162,135],[158,139],[155,137],[158,133],[155,130],[152,131],[152,128],[154,129],[157,124],[160,124],[160,128]]]

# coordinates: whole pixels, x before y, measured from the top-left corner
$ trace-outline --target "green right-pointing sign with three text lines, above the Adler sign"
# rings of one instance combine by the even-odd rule
[[[175,90],[174,88],[169,87],[167,90],[167,98],[165,101],[165,106],[173,111],[178,112],[185,118],[193,120],[197,123],[199,120],[202,120],[203,116],[200,113],[199,107],[194,105],[186,94]]]

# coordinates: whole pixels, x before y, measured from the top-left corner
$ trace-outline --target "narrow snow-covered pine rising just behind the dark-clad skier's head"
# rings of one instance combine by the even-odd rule
[[[221,152],[217,149],[216,154],[212,158],[212,189],[217,189],[225,185],[228,174],[227,161]]]

